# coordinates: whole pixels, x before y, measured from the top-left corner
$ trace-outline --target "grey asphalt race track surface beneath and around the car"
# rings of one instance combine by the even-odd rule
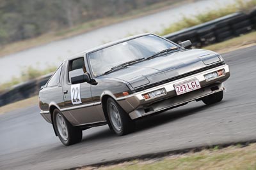
[[[83,131],[83,141],[63,146],[38,106],[0,115],[0,169],[66,169],[196,146],[256,139],[256,46],[223,54],[230,79],[221,103],[202,102],[138,122],[115,136],[108,126]]]

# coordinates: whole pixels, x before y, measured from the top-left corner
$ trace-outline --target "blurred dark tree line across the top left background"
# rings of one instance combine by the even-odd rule
[[[0,0],[0,45],[165,0]]]

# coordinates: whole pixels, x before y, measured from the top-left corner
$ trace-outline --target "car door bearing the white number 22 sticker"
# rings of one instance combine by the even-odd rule
[[[86,72],[84,57],[68,60],[65,76],[63,80],[63,98],[65,109],[70,114],[70,120],[73,118],[73,125],[93,124],[104,120],[96,111],[91,88],[89,83],[71,84],[70,71],[83,69]],[[72,117],[72,118],[71,118]]]

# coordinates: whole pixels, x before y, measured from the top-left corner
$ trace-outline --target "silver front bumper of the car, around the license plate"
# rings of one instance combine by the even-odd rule
[[[225,75],[214,78],[210,81],[205,80],[205,74],[212,73],[220,69],[225,70]],[[229,76],[230,71],[228,65],[218,66],[212,69],[208,69],[207,71],[202,71],[200,73],[187,76],[185,78],[180,78],[179,80],[170,81],[168,83],[158,85],[157,87],[152,87],[147,90],[136,92],[135,94],[131,94],[129,96],[120,97],[117,99],[117,101],[118,104],[120,104],[120,106],[122,106],[122,108],[127,113],[129,113],[129,116],[132,119],[136,119],[146,115],[150,115],[152,113],[157,113],[159,111],[168,110],[182,104],[186,104],[190,101],[199,100],[200,98],[208,96],[210,94],[220,92],[221,90],[223,90],[223,81],[227,80]],[[200,82],[201,89],[177,96],[173,85],[193,79],[197,79]],[[148,92],[163,88],[166,90],[166,94],[164,96],[159,96],[147,100],[145,100],[142,96],[143,94],[146,94]]]

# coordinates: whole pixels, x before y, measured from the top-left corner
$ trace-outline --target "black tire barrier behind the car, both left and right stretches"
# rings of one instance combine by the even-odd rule
[[[192,46],[202,47],[225,41],[256,29],[256,10],[248,14],[237,12],[217,18],[204,24],[189,27],[164,36],[175,43],[191,40]],[[40,87],[45,85],[51,74],[35,80],[27,81],[12,87],[11,90],[0,94],[0,106],[20,101],[38,94]]]

